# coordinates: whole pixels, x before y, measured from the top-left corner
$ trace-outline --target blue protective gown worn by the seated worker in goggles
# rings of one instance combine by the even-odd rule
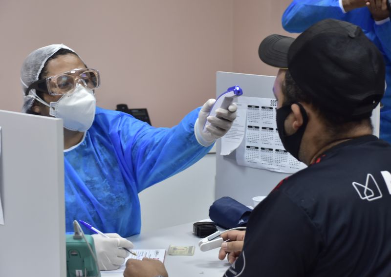
[[[104,233],[140,233],[138,193],[211,149],[195,139],[198,112],[173,128],[154,128],[129,114],[97,107],[84,140],[64,151],[66,232],[73,231],[74,219],[81,219]]]

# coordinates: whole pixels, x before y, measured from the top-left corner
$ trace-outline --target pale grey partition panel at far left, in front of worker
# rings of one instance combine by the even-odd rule
[[[0,276],[66,276],[63,121],[0,110]]]

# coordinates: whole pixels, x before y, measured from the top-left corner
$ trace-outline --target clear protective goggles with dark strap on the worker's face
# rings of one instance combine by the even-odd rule
[[[50,95],[62,95],[73,92],[77,84],[94,89],[100,85],[99,71],[91,68],[77,68],[55,76],[35,81],[26,89],[25,95],[31,89],[36,89]]]

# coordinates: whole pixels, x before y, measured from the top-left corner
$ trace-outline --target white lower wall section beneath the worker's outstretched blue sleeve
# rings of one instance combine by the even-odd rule
[[[215,201],[216,154],[140,192],[141,234],[208,218]],[[192,230],[188,230],[191,232]]]

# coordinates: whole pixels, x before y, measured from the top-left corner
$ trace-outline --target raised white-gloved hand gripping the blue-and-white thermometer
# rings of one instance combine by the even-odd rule
[[[232,103],[228,109],[218,108],[216,110],[216,116],[208,116],[215,102],[215,99],[209,99],[206,101],[199,111],[198,118],[195,121],[195,138],[202,146],[210,146],[216,139],[225,135],[236,118],[236,110],[238,107],[235,103]],[[207,120],[211,123],[211,125],[208,125],[204,132],[203,128]]]

